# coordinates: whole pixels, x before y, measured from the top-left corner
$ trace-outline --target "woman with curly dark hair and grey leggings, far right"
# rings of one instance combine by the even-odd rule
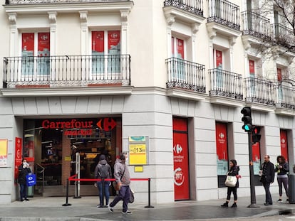
[[[286,201],[289,201],[289,195],[288,195],[288,172],[289,172],[289,165],[286,163],[286,159],[284,156],[277,156],[276,157],[276,169],[277,173],[277,180],[279,184],[279,200],[278,202],[281,202],[283,200],[283,185],[286,192]]]

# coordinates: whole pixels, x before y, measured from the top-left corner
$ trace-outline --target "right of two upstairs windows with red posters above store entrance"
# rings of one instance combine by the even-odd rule
[[[120,31],[92,31],[92,73],[120,72]]]

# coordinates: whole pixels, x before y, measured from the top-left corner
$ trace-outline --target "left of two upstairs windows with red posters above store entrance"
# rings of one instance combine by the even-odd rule
[[[21,76],[44,77],[50,70],[50,33],[22,33]]]

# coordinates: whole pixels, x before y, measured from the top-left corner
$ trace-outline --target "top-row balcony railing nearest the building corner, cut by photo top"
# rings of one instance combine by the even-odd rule
[[[164,7],[174,6],[197,16],[203,16],[203,0],[165,0]]]

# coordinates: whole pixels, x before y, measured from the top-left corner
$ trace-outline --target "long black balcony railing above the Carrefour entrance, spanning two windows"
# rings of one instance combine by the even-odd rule
[[[4,88],[130,85],[130,55],[7,57]]]

